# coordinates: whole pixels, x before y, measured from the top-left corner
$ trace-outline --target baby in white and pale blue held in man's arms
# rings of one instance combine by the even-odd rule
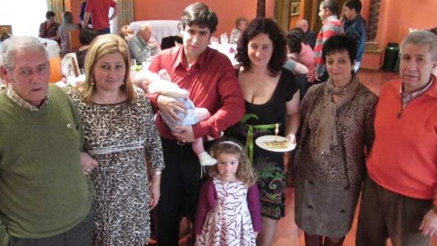
[[[158,93],[170,96],[184,103],[186,113],[178,113],[179,118],[182,119],[180,121],[174,121],[169,115],[159,112],[162,115],[162,119],[172,131],[174,131],[175,126],[177,125],[194,125],[199,121],[211,117],[211,113],[208,109],[197,108],[194,106],[193,102],[188,98],[187,90],[181,89],[177,84],[171,82],[171,78],[165,69],[159,71],[158,74],[153,74],[148,70],[142,70],[133,76],[132,81],[136,84],[143,82],[143,87],[147,93]],[[208,138],[208,140],[213,139]],[[205,151],[202,138],[195,139],[192,143],[192,148],[202,166],[214,165],[217,163],[217,160]],[[203,171],[203,169],[201,170]]]

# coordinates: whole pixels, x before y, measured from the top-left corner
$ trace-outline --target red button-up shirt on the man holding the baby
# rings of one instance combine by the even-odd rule
[[[193,125],[194,138],[207,135],[218,138],[220,132],[238,122],[244,114],[244,98],[235,71],[229,59],[217,50],[207,48],[189,68],[184,47],[173,47],[161,51],[148,69],[154,73],[167,70],[172,82],[188,90],[196,107],[210,111],[209,119]],[[157,96],[148,96],[155,108]],[[160,114],[157,114],[156,125],[163,138],[175,139]]]

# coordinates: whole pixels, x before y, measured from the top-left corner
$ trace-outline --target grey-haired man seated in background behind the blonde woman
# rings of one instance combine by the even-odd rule
[[[137,34],[129,40],[129,52],[137,62],[144,62],[159,52],[158,43],[151,36],[152,27],[143,23],[138,28]]]

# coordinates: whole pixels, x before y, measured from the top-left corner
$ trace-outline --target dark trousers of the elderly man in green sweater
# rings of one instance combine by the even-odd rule
[[[91,206],[86,217],[65,233],[41,239],[23,239],[11,236],[9,246],[91,246],[94,219],[94,206]]]

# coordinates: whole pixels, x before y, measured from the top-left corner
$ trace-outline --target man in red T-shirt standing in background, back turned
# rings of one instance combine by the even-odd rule
[[[114,8],[111,17],[108,17],[109,7]],[[110,33],[109,21],[115,18],[117,14],[117,2],[114,0],[87,0],[82,25],[88,23],[89,18],[92,17],[92,29],[99,34]]]

